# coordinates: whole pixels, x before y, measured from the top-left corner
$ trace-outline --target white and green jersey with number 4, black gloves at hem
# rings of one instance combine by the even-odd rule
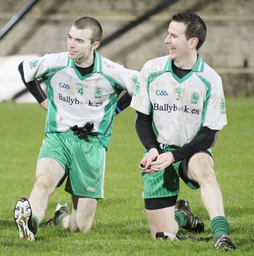
[[[91,122],[107,147],[117,97],[123,90],[133,95],[139,72],[100,57],[96,50],[94,55],[89,75],[82,76],[65,52],[25,60],[24,77],[26,82],[42,78],[47,86],[46,134]]]

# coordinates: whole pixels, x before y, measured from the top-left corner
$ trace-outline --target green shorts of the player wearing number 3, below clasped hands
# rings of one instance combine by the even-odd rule
[[[164,145],[163,149],[160,149],[159,153],[165,153],[176,149],[177,147],[170,147]],[[202,151],[212,154],[208,151]],[[144,151],[144,155],[147,151]],[[144,184],[144,194],[143,197],[147,198],[160,198],[160,197],[172,197],[173,195],[178,195],[180,193],[179,188],[179,177],[185,182],[187,186],[191,189],[198,189],[199,184],[195,181],[191,181],[187,174],[187,164],[190,160],[184,159],[183,161],[178,161],[172,163],[169,167],[155,172],[154,174],[142,172],[142,180]]]

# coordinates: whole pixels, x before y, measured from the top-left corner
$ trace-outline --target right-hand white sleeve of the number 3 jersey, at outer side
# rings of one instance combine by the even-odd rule
[[[203,126],[212,130],[221,130],[227,124],[226,104],[222,88],[222,80],[219,75],[214,76],[211,82],[211,97],[205,101],[207,110],[204,116]]]

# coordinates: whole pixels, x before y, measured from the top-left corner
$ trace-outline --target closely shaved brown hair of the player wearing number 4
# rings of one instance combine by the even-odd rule
[[[91,35],[91,44],[102,39],[102,26],[98,20],[95,20],[94,18],[87,16],[82,17],[76,20],[76,22],[73,23],[73,26],[75,26],[77,29],[90,28],[93,32]]]

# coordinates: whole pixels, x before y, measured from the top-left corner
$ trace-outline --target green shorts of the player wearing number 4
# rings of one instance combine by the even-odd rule
[[[104,197],[104,170],[106,150],[96,136],[79,139],[73,131],[49,133],[43,140],[40,155],[58,161],[65,170],[65,176],[59,182],[67,182],[65,191],[72,195],[89,198]]]

